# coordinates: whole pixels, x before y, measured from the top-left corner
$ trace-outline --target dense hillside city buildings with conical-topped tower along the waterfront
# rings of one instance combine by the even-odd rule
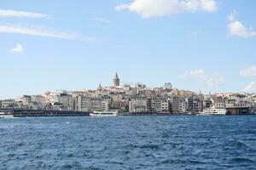
[[[148,88],[143,83],[120,86],[116,73],[113,86],[82,91],[46,92],[3,99],[1,108],[46,109],[61,111],[119,111],[131,113],[196,114],[203,109],[225,108],[229,114],[256,112],[256,94],[201,94],[173,88],[171,82]]]

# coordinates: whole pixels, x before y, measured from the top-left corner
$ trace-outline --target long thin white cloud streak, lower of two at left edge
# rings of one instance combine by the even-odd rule
[[[95,38],[93,37],[84,37],[79,35],[78,33],[67,31],[55,31],[49,30],[44,27],[35,26],[0,25],[0,33],[15,33],[40,37],[55,37],[67,40],[78,40],[83,42],[95,41]]]

